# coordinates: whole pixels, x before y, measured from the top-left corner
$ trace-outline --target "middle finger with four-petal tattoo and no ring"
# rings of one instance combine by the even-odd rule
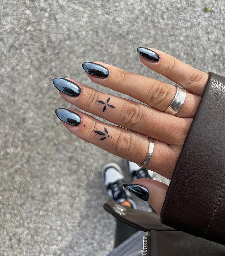
[[[185,140],[189,128],[187,120],[166,115],[144,104],[101,93],[72,79],[57,79],[54,79],[56,86],[59,83],[64,84],[63,90],[58,86],[58,89],[64,92],[60,92],[60,95],[84,111],[167,144],[180,145]],[[73,86],[73,90],[65,89],[68,88],[67,83]],[[71,94],[75,95],[73,91],[76,96],[71,97]]]

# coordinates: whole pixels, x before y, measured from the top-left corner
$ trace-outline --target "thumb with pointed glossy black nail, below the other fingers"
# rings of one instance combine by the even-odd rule
[[[167,184],[152,179],[138,179],[131,184],[123,184],[123,186],[140,199],[148,201],[160,214],[168,189]]]

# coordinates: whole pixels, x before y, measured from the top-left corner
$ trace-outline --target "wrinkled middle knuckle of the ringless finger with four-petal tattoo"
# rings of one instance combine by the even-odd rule
[[[142,111],[139,105],[124,103],[124,119],[123,122],[128,125],[130,128],[140,123]]]

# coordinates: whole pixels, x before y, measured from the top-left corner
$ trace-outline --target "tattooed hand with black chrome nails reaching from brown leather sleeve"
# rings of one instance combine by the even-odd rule
[[[70,112],[58,109],[56,114],[77,137],[138,164],[147,155],[148,137],[153,138],[154,151],[146,168],[170,179],[207,84],[208,74],[152,48],[141,47],[138,52],[144,65],[188,91],[183,106],[175,116],[163,111],[173,101],[176,86],[102,62],[83,63],[92,81],[127,94],[148,106],[104,94],[73,79],[56,78],[53,83],[66,101],[119,126],[100,122],[74,109]],[[149,190],[149,203],[160,213],[168,186],[149,179],[139,179],[132,184]]]

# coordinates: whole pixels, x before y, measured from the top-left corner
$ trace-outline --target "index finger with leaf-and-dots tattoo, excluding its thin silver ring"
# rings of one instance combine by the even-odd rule
[[[145,135],[100,122],[77,110],[57,109],[56,114],[64,126],[82,140],[129,161],[144,162],[149,149],[149,140]],[[178,154],[170,146],[154,140],[154,152],[147,168],[170,178],[177,157]]]

